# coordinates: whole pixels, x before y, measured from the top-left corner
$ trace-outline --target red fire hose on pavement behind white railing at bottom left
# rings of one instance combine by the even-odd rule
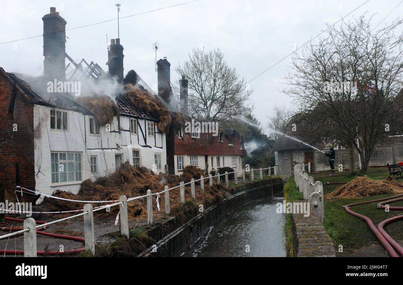
[[[8,218],[6,217],[6,220],[8,221],[16,221],[16,222],[23,222],[23,219],[17,219],[17,218]],[[8,225],[8,221],[6,221],[6,223],[4,223],[3,225],[0,226],[0,228],[3,231],[21,231],[24,228],[4,228],[4,226]],[[44,221],[35,221],[38,225],[43,225],[46,224],[46,222]],[[59,239],[71,239],[74,241],[82,241],[84,242],[85,239],[83,239],[82,237],[73,237],[71,235],[58,235],[56,233],[45,233],[42,232],[44,229],[46,229],[46,226],[44,228],[39,228],[36,230],[36,233],[38,235],[45,235],[47,237],[57,237]],[[20,235],[23,235],[23,233],[21,233]],[[16,235],[16,236],[20,236],[20,235]],[[38,255],[62,255],[62,254],[73,254],[73,253],[78,253],[78,252],[83,252],[85,251],[85,248],[79,248],[77,250],[66,250],[63,252],[60,252],[58,250],[50,250],[50,251],[44,251],[44,250],[38,250],[37,254]],[[0,250],[0,254],[24,254],[23,250]]]

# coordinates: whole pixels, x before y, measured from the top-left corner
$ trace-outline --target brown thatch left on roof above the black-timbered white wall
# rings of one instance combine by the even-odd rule
[[[125,91],[133,104],[158,118],[159,122],[157,123],[157,127],[160,131],[168,133],[172,118],[169,110],[164,106],[164,103],[152,96],[149,92],[131,84],[125,86]]]

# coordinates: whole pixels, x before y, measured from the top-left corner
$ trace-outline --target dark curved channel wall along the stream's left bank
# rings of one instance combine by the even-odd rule
[[[167,221],[165,225],[160,225],[154,231],[153,238],[158,241],[156,242],[157,250],[155,250],[156,246],[151,246],[138,254],[138,257],[181,256],[199,237],[218,223],[225,215],[230,214],[247,202],[272,195],[270,185],[270,180],[248,183],[233,189],[231,191],[232,196],[204,209],[202,213],[195,214],[193,218],[190,218],[185,223],[175,223],[174,219]],[[281,193],[283,186],[282,179],[273,179],[273,194]],[[166,233],[166,229],[164,230],[163,227],[171,230]]]

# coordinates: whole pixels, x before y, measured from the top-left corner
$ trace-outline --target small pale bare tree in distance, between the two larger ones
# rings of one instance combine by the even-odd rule
[[[272,114],[267,116],[268,128],[270,129],[270,137],[277,140],[278,133],[285,133],[287,131],[287,124],[294,115],[292,108],[288,108],[287,104],[283,101],[281,104],[275,104],[272,110]]]

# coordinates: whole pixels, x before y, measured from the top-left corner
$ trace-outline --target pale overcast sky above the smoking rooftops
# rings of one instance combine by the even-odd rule
[[[174,67],[183,63],[193,48],[220,48],[230,67],[247,81],[301,47],[305,42],[349,14],[366,0],[98,0],[31,1],[0,0],[0,43],[42,35],[42,17],[56,7],[66,21],[66,52],[76,62],[85,58],[107,70],[106,39],[118,37],[116,3],[120,3],[120,44],[124,47],[125,75],[134,69],[150,86],[157,84],[153,43],[160,44],[157,60],[166,56],[171,63],[171,81],[179,79]],[[391,23],[400,16],[401,0],[370,0],[345,19],[365,12],[372,23]],[[388,15],[391,13],[390,15]],[[401,31],[397,31],[401,33]],[[6,72],[43,74],[43,38],[0,44],[0,67]],[[253,114],[266,126],[275,104],[295,106],[281,92],[281,78],[289,71],[291,56],[249,82],[253,89]]]

